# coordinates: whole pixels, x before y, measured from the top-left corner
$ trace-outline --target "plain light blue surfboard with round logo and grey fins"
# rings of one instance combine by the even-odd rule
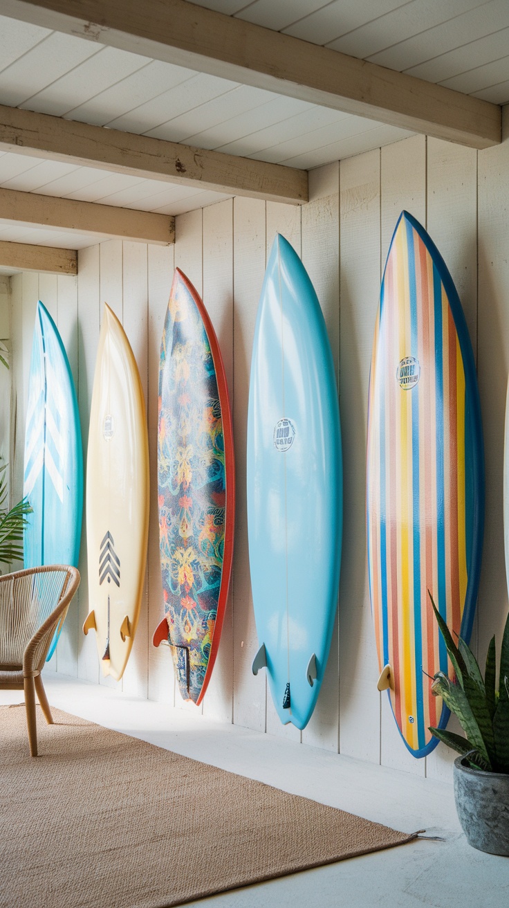
[[[279,234],[254,334],[248,533],[259,651],[284,725],[316,705],[338,605],[342,458],[338,389],[317,294]]]

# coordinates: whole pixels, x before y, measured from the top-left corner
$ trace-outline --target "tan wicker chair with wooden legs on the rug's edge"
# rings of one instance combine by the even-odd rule
[[[53,724],[41,671],[80,584],[76,568],[48,565],[0,577],[0,689],[24,690],[30,754],[37,756],[35,691]]]

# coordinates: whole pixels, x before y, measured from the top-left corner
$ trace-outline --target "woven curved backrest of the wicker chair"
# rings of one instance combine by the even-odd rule
[[[0,666],[23,665],[26,646],[39,637],[45,624],[53,623],[49,620],[52,616],[58,620],[60,613],[66,612],[78,584],[77,570],[66,565],[30,568],[0,577]],[[50,643],[51,635],[47,648]],[[36,656],[40,662],[38,652]]]

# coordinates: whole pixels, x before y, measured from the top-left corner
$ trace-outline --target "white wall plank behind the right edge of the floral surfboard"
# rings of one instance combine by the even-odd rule
[[[203,209],[203,302],[220,344],[226,380],[233,392],[233,200]],[[233,602],[230,594],[216,666],[203,699],[203,715],[233,718]]]

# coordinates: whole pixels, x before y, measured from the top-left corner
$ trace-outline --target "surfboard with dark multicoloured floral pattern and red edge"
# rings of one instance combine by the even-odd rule
[[[214,667],[233,558],[235,467],[220,347],[199,294],[177,268],[162,332],[158,424],[164,612],[184,700],[199,705]]]

